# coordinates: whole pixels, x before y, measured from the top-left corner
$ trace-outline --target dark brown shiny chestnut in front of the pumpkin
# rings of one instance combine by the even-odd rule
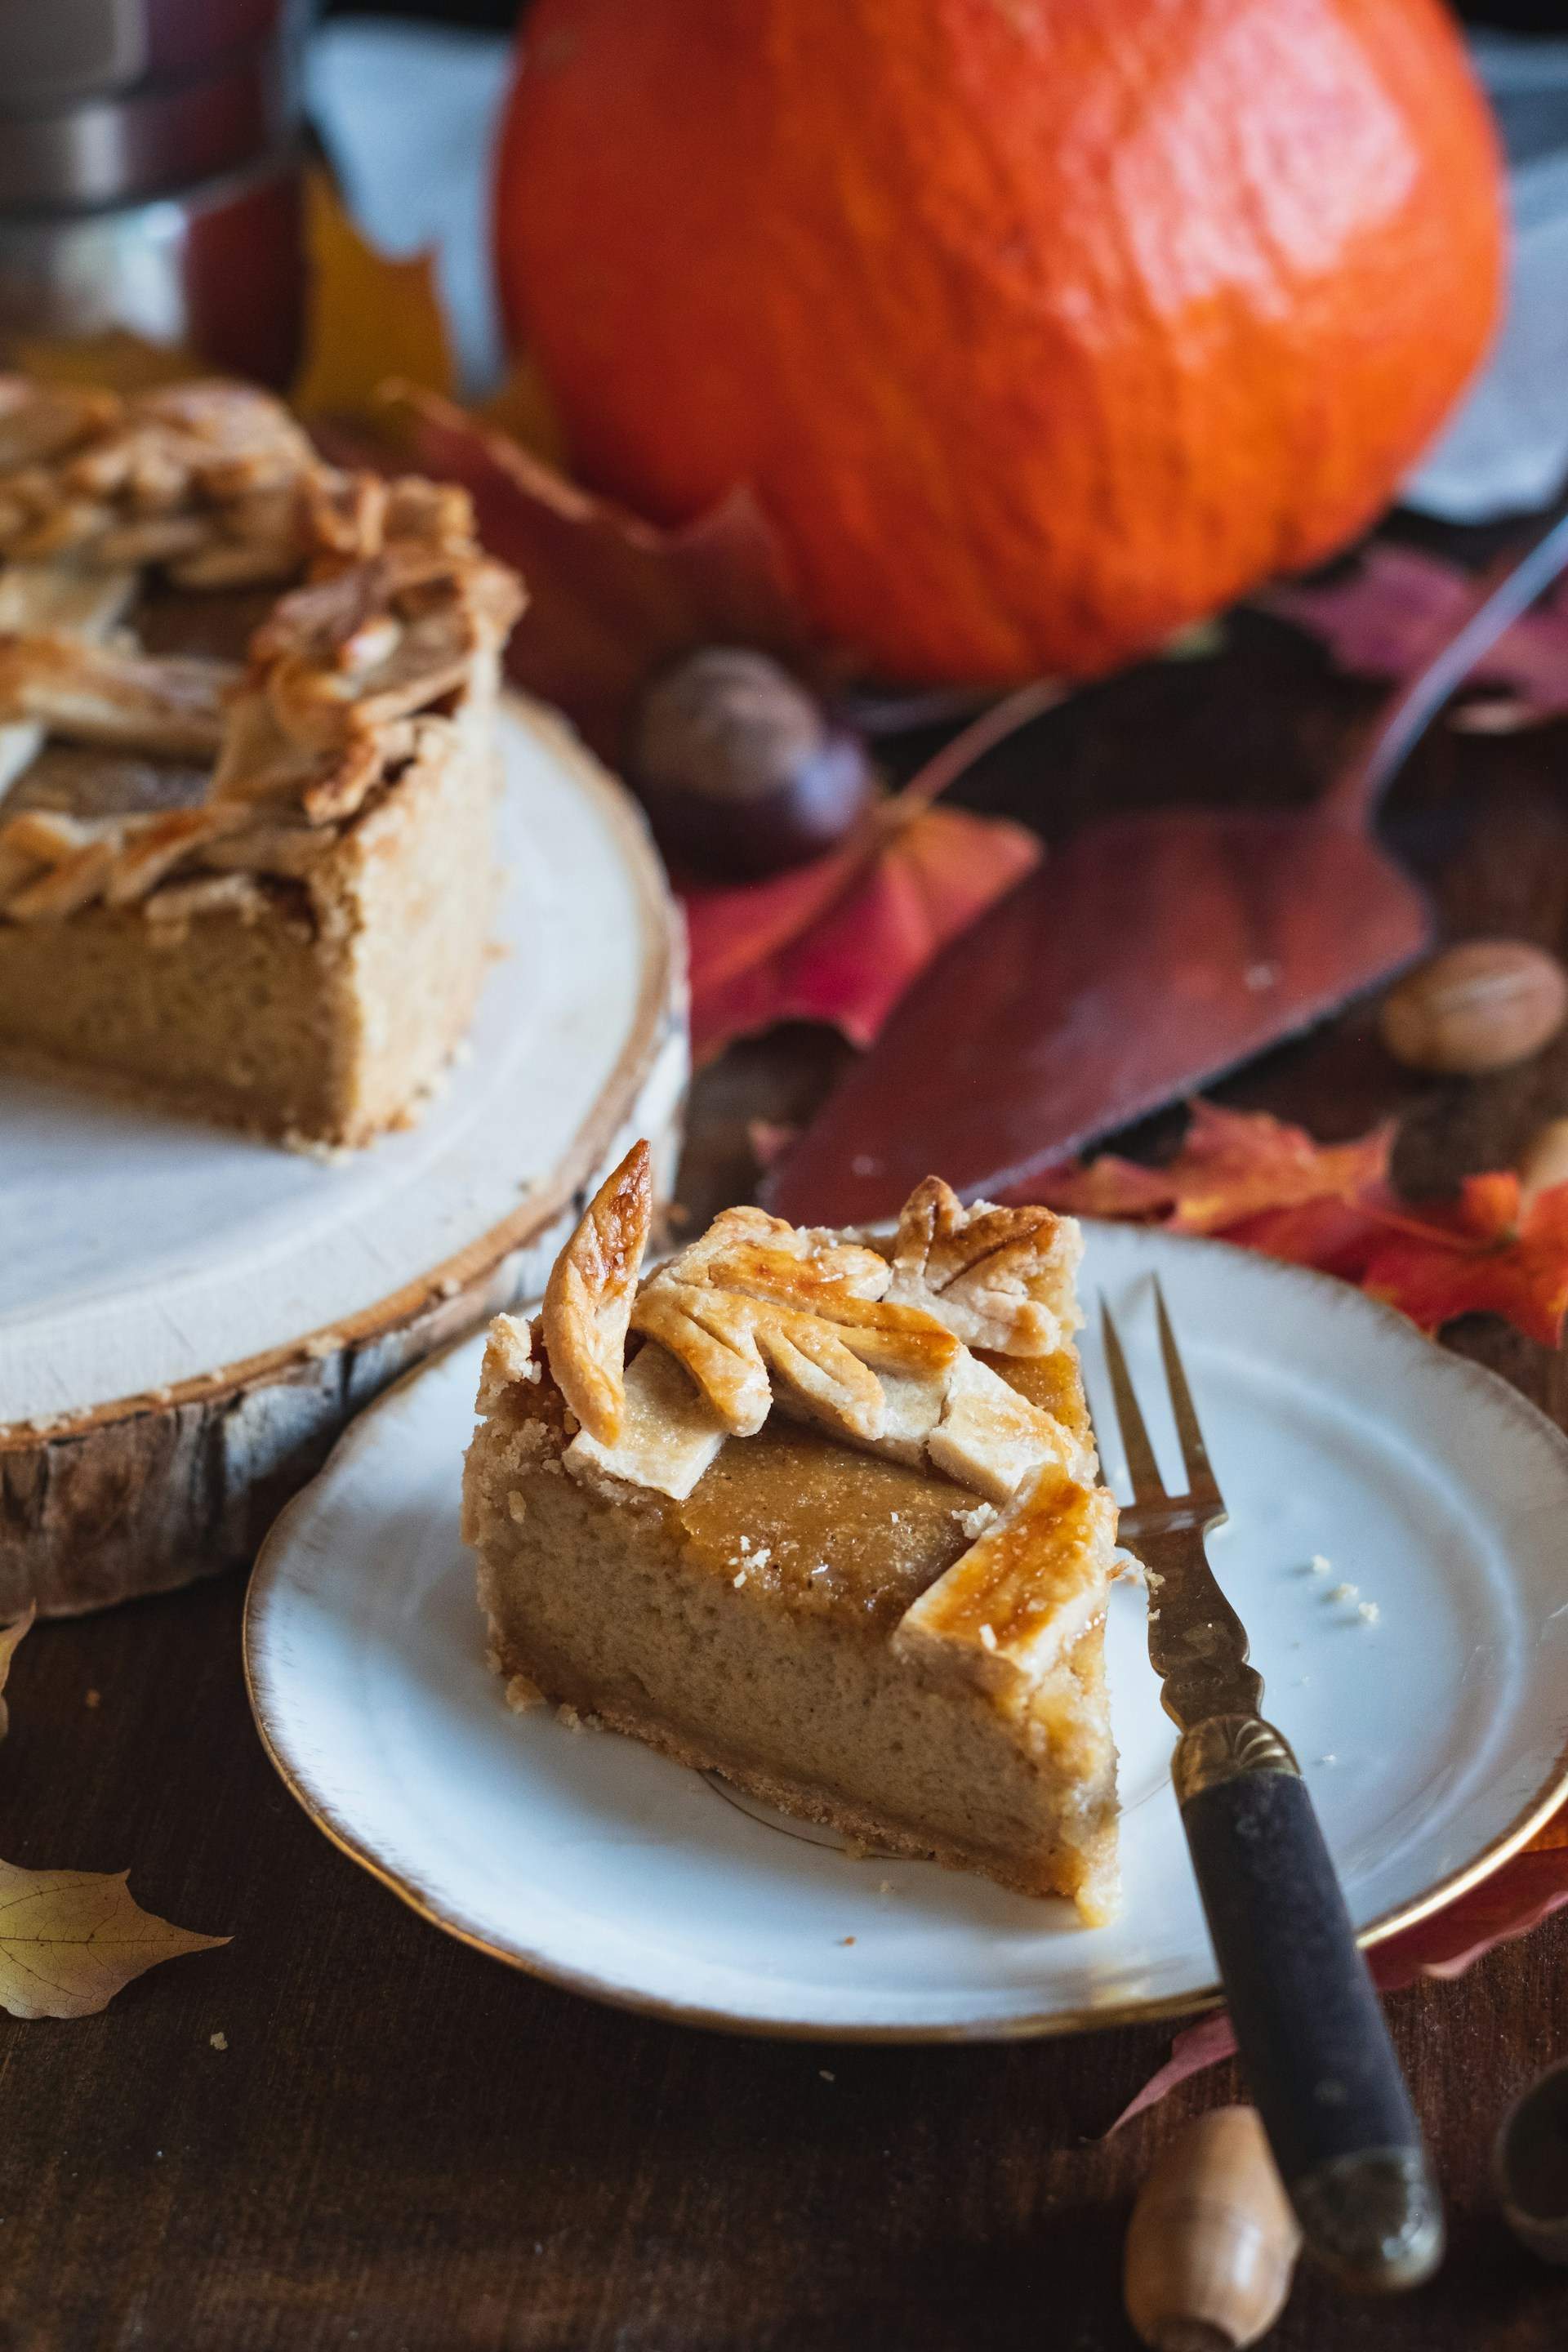
[[[771,654],[736,644],[654,680],[630,769],[670,858],[752,880],[835,849],[877,797],[860,739]]]

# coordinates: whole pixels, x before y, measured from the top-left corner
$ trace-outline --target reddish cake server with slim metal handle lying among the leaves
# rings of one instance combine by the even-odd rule
[[[1429,943],[1378,800],[1434,713],[1568,564],[1556,522],[1387,706],[1316,809],[1093,823],[957,938],[773,1164],[804,1223],[891,1216],[940,1174],[1027,1197],[1095,1136],[1312,1028]]]

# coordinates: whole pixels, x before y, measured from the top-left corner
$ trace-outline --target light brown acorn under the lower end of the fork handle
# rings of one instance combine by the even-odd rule
[[[1126,2314],[1152,2352],[1241,2352],[1284,2312],[1300,2244],[1258,2110],[1213,2107],[1138,2192]]]

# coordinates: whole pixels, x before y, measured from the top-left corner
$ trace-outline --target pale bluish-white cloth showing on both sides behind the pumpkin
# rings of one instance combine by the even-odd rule
[[[1490,367],[1403,487],[1446,522],[1544,506],[1568,480],[1568,40],[1481,33],[1474,54],[1512,160],[1514,280]],[[388,252],[435,247],[475,393],[501,374],[489,209],[508,68],[494,33],[390,16],[324,24],[310,52],[310,108],[348,200]]]

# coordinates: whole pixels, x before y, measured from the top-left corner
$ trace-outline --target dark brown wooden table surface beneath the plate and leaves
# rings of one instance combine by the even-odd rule
[[[1093,807],[1305,797],[1366,706],[1312,647],[1246,621],[1218,661],[1081,696],[969,797],[1053,835]],[[1439,734],[1389,833],[1455,931],[1568,950],[1568,729]],[[750,1190],[748,1120],[799,1117],[835,1051],[780,1037],[703,1077],[696,1214]],[[1507,1077],[1427,1087],[1356,1011],[1222,1094],[1324,1136],[1396,1108],[1403,1178],[1439,1190],[1568,1112],[1568,1040]],[[1559,1357],[1488,1322],[1450,1343],[1568,1421]],[[9,1696],[0,1853],[129,1865],[143,1903],[233,1943],[96,2018],[0,2016],[0,2352],[1133,2345],[1131,2194],[1185,2114],[1237,2096],[1222,2067],[1103,2140],[1168,2030],[731,2042],[512,1976],[423,1926],[273,1778],[233,1578],[38,1630]],[[1507,2098],[1568,2051],[1568,1915],[1389,2011],[1450,2199],[1448,2265],[1394,2307],[1302,2274],[1269,2340],[1561,2352],[1568,2272],[1507,2237],[1486,2157]]]

